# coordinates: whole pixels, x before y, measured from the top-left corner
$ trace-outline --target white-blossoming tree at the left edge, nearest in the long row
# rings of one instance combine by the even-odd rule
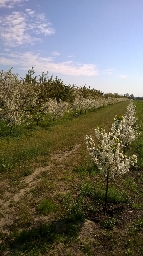
[[[0,72],[0,120],[10,127],[10,134],[13,126],[21,124],[23,116],[23,101],[20,97],[21,82],[18,74]]]

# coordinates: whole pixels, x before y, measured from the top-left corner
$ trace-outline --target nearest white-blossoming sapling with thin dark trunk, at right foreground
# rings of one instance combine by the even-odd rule
[[[99,140],[99,144],[95,146],[91,136],[86,136],[86,144],[89,154],[92,156],[94,163],[97,165],[106,180],[106,194],[104,214],[107,206],[108,184],[116,175],[122,175],[129,170],[130,165],[137,162],[137,157],[127,158],[123,155],[122,142],[112,132],[109,135],[104,129],[97,127],[95,135]]]

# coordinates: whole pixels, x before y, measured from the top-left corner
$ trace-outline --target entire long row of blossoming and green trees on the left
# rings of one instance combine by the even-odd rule
[[[73,118],[77,112],[100,108],[127,98],[104,97],[104,93],[87,87],[64,85],[59,79],[48,78],[48,73],[34,76],[33,68],[24,79],[18,74],[0,72],[0,120],[11,131],[13,126],[43,121],[46,115],[52,120],[63,117],[69,110]],[[10,132],[11,132],[10,131]]]

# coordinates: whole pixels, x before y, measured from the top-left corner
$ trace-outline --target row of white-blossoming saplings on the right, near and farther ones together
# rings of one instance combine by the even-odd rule
[[[127,106],[124,116],[115,116],[111,132],[107,134],[104,128],[97,127],[95,135],[99,140],[96,146],[91,136],[86,136],[86,144],[89,154],[97,165],[100,173],[106,180],[106,194],[104,213],[106,213],[108,184],[115,176],[124,174],[137,162],[137,156],[128,157],[125,155],[125,149],[134,141],[139,133],[138,126],[134,125],[137,118],[135,117],[135,105],[133,99]]]

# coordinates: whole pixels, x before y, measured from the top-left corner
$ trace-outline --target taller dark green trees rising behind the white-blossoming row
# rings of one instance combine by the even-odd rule
[[[22,79],[22,78],[21,78]],[[28,71],[25,78],[22,79],[23,84],[33,84],[34,87],[39,87],[41,91],[40,97],[43,100],[48,98],[55,98],[57,102],[61,99],[62,101],[69,101],[72,103],[75,97],[79,99],[96,99],[99,97],[109,98],[127,98],[127,96],[123,96],[118,93],[104,93],[100,90],[91,89],[86,85],[82,87],[77,87],[76,85],[66,85],[61,79],[58,79],[57,76],[53,79],[53,75],[49,78],[48,72],[41,75],[34,76],[34,70],[32,69]]]

